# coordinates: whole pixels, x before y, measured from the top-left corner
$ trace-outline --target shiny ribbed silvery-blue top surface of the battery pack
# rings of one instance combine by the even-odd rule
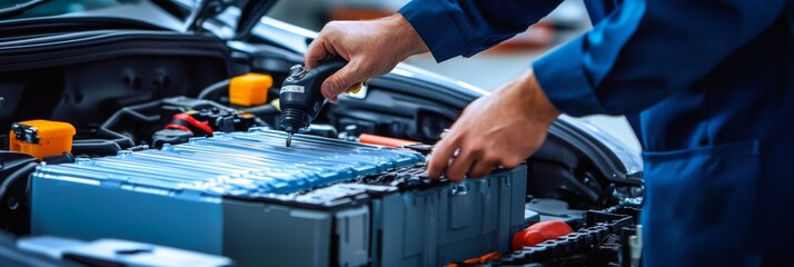
[[[160,150],[121,151],[116,157],[42,166],[34,177],[87,180],[118,179],[141,187],[188,188],[220,195],[289,194],[328,186],[389,169],[424,157],[381,148],[255,128],[249,132],[193,138]]]

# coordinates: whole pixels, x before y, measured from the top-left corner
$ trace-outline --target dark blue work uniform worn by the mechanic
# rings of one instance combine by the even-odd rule
[[[525,31],[559,2],[414,0],[400,13],[444,61]],[[593,29],[533,68],[568,115],[635,118],[646,266],[794,258],[794,1],[585,3]]]

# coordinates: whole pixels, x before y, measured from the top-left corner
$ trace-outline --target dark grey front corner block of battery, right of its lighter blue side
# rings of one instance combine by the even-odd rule
[[[369,208],[311,210],[224,202],[224,255],[240,266],[363,266],[368,263]]]

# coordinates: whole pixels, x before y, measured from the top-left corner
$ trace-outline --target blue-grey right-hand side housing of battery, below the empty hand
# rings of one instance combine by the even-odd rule
[[[373,197],[374,266],[440,266],[509,250],[524,227],[527,167]]]

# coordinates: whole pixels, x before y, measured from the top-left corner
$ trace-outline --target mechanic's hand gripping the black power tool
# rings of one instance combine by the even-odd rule
[[[322,96],[336,102],[354,85],[388,73],[406,58],[427,51],[414,27],[399,13],[369,21],[331,21],[309,46],[306,68],[334,55],[349,61],[322,82]]]

